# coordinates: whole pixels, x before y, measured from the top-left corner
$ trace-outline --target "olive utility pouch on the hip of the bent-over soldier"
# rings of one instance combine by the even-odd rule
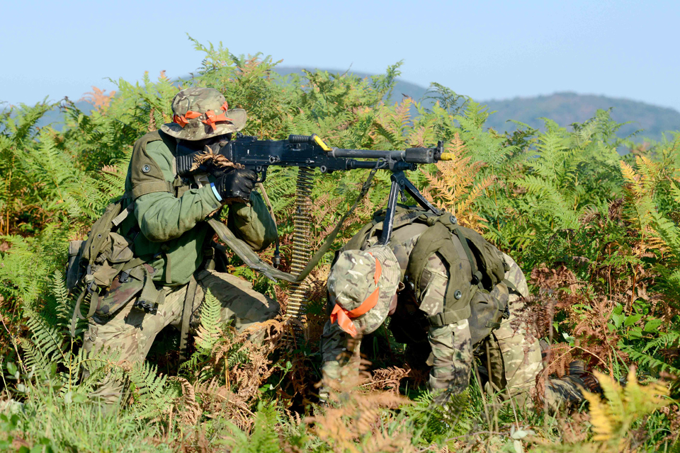
[[[508,307],[509,291],[505,283],[501,282],[491,292],[479,289],[470,300],[470,337],[472,345],[480,343],[492,331],[501,326]]]

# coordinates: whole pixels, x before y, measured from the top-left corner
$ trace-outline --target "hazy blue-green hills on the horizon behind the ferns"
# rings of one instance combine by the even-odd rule
[[[321,70],[334,74],[345,72],[339,69]],[[281,75],[300,74],[302,67],[278,67],[277,71]],[[370,74],[360,71],[349,70],[348,72],[360,77],[370,76]],[[410,96],[416,101],[420,101],[424,98],[426,91],[427,88],[423,86],[397,79],[389,102],[400,101],[403,96]],[[630,124],[621,127],[618,134],[620,137],[627,137],[637,130],[643,130],[636,138],[636,141],[640,142],[643,138],[659,140],[663,132],[680,131],[680,112],[677,110],[629,99],[564,92],[549,96],[478,102],[487,105],[489,111],[496,111],[489,117],[487,127],[493,127],[499,132],[516,130],[515,123],[508,120],[520,121],[540,129],[543,127],[543,121],[539,118],[547,117],[561,126],[569,126],[573,122],[584,122],[592,117],[598,109],[607,108],[613,108],[611,113],[613,120],[630,122]],[[85,101],[79,101],[76,105],[85,113],[92,110],[92,106]],[[62,121],[61,113],[58,110],[52,110],[45,115],[39,125],[44,126],[51,123],[53,127],[60,129]]]

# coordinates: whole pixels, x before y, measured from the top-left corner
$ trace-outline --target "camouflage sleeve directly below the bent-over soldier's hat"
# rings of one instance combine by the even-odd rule
[[[321,336],[322,355],[322,387],[319,389],[319,399],[328,401],[330,389],[334,383],[340,383],[352,372],[358,373],[353,361],[349,359],[354,350],[361,348],[361,340],[349,344],[350,336],[339,328],[336,323],[326,321],[324,333]],[[350,350],[351,349],[351,350]]]

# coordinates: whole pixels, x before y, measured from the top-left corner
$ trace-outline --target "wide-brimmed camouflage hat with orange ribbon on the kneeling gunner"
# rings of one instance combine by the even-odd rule
[[[215,88],[186,88],[172,99],[173,122],[161,126],[171,137],[202,140],[238,132],[246,125],[246,110],[228,109],[225,96]]]

